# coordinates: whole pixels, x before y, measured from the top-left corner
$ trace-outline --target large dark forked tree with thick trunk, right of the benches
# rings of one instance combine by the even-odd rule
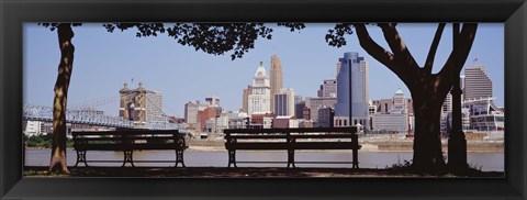
[[[365,23],[339,23],[328,31],[326,42],[330,46],[346,45],[347,34],[357,32],[360,46],[378,62],[393,71],[410,89],[414,102],[415,137],[414,169],[437,171],[445,167],[440,141],[440,111],[447,93],[457,81],[464,62],[470,53],[478,30],[476,23],[464,23],[461,31],[459,23],[453,23],[452,51],[437,74],[431,73],[436,51],[446,24],[439,23],[425,64],[421,67],[410,53],[396,23],[378,23],[391,52],[375,43],[369,35]]]

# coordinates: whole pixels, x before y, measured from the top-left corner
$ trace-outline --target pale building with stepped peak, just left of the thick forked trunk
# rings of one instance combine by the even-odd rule
[[[372,116],[372,131],[374,132],[397,132],[408,131],[408,113],[406,99],[401,89],[395,91],[392,98],[393,107],[385,113],[377,113]]]

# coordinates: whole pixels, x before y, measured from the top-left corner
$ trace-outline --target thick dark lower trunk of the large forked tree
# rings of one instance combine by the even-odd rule
[[[412,167],[417,171],[437,173],[445,168],[441,151],[440,118],[445,97],[437,92],[411,91],[414,101],[415,134]]]

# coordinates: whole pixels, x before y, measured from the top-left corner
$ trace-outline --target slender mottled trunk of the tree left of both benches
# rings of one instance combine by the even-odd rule
[[[75,47],[71,44],[74,31],[71,24],[60,23],[57,30],[60,62],[58,64],[57,81],[55,82],[55,98],[53,100],[53,145],[49,171],[68,174],[66,159],[66,105],[69,80],[74,67]]]

